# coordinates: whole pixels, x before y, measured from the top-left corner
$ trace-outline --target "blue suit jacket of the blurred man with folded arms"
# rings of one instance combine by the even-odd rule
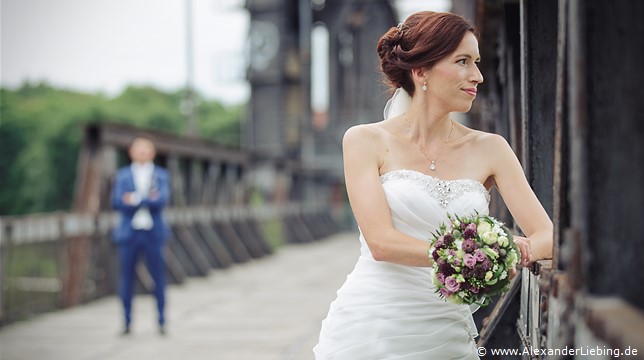
[[[136,191],[134,175],[130,166],[125,166],[116,173],[112,188],[112,207],[120,214],[119,223],[112,233],[112,238],[116,243],[125,243],[132,239],[134,236],[132,218],[140,207],[147,207],[150,211],[153,221],[150,231],[153,236],[159,240],[165,240],[168,237],[169,229],[163,220],[163,208],[170,199],[170,181],[165,169],[154,167],[151,188],[154,190],[154,196],[142,199],[136,206],[126,204],[123,202],[123,194]]]

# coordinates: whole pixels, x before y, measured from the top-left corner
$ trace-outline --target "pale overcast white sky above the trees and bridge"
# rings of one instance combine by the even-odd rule
[[[194,85],[208,99],[246,101],[243,0],[192,0]],[[401,15],[449,1],[399,0]],[[185,0],[1,0],[0,82],[46,81],[117,95],[129,84],[186,84]]]

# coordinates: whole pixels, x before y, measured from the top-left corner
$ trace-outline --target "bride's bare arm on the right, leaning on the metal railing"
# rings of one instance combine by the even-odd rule
[[[494,182],[526,237],[515,237],[522,253],[528,248],[529,261],[552,258],[553,225],[523,173],[514,151],[499,135],[490,135],[486,146]],[[525,265],[525,263],[524,263]]]

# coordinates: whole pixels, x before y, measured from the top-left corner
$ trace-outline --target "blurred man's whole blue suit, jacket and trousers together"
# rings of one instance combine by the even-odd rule
[[[132,320],[132,298],[136,263],[141,254],[145,254],[148,271],[154,280],[154,296],[157,301],[159,325],[165,324],[165,263],[163,245],[169,230],[163,220],[163,208],[170,198],[170,184],[165,169],[155,166],[147,198],[137,205],[123,201],[125,193],[136,192],[134,175],[130,166],[119,169],[112,188],[112,206],[120,214],[120,221],[113,231],[113,240],[119,247],[119,296],[125,312],[125,327],[129,329]],[[137,230],[132,227],[134,214],[141,207],[146,207],[152,218],[152,228]]]

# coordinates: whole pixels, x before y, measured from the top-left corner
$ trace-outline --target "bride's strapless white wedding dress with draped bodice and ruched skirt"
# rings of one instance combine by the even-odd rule
[[[448,214],[488,213],[489,193],[475,180],[439,180],[413,170],[380,177],[396,229],[429,241]],[[439,298],[429,267],[361,254],[322,322],[317,360],[478,359],[470,307]]]

